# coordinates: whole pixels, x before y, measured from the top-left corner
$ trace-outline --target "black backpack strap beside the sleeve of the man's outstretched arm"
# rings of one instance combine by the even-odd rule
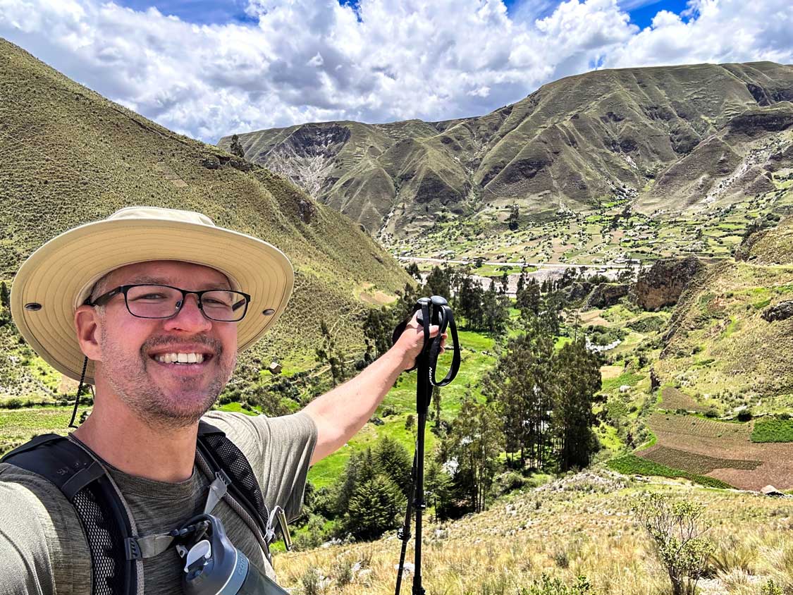
[[[262,536],[269,539],[270,511],[264,503],[259,480],[243,452],[222,430],[203,420],[198,424],[197,449],[216,473],[228,476],[231,480],[228,493],[255,520]]]

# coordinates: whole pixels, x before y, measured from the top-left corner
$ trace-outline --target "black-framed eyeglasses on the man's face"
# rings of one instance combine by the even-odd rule
[[[194,294],[198,309],[211,321],[239,322],[247,313],[251,296],[234,290],[188,291],[170,285],[122,285],[86,305],[105,305],[124,294],[127,310],[138,318],[171,318],[179,313],[188,294]]]

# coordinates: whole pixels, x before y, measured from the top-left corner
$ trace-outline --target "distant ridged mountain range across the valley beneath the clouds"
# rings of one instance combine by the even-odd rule
[[[649,221],[724,214],[789,178],[791,100],[789,65],[630,68],[561,79],[481,117],[326,122],[239,140],[249,159],[289,175],[387,244],[428,255],[443,245],[465,251],[461,240],[482,251],[488,230],[507,235],[513,205],[522,228],[565,213],[632,212]],[[414,243],[447,221],[454,234]],[[584,230],[619,248],[619,237],[598,237],[603,231]]]

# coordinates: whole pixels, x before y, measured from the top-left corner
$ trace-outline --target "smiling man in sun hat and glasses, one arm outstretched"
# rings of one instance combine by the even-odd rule
[[[300,413],[210,412],[236,363],[285,309],[293,271],[277,248],[187,211],[132,207],[50,240],[13,282],[12,313],[36,352],[96,387],[90,417],[68,440],[92,452],[124,497],[136,535],[163,534],[204,509],[199,421],[243,452],[269,509],[301,507],[308,467],[370,419],[423,335],[415,321],[351,381]],[[438,332],[433,327],[432,334]],[[226,501],[213,510],[251,564],[274,570]],[[51,482],[0,464],[0,593],[92,593],[83,528]],[[174,547],[143,561],[145,593],[182,593]]]

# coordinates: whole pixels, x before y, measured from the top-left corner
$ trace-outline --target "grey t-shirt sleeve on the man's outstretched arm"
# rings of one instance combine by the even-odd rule
[[[287,518],[296,518],[316,446],[316,424],[311,417],[303,412],[254,417],[213,411],[205,419],[243,451],[259,479],[267,508],[280,505]]]

